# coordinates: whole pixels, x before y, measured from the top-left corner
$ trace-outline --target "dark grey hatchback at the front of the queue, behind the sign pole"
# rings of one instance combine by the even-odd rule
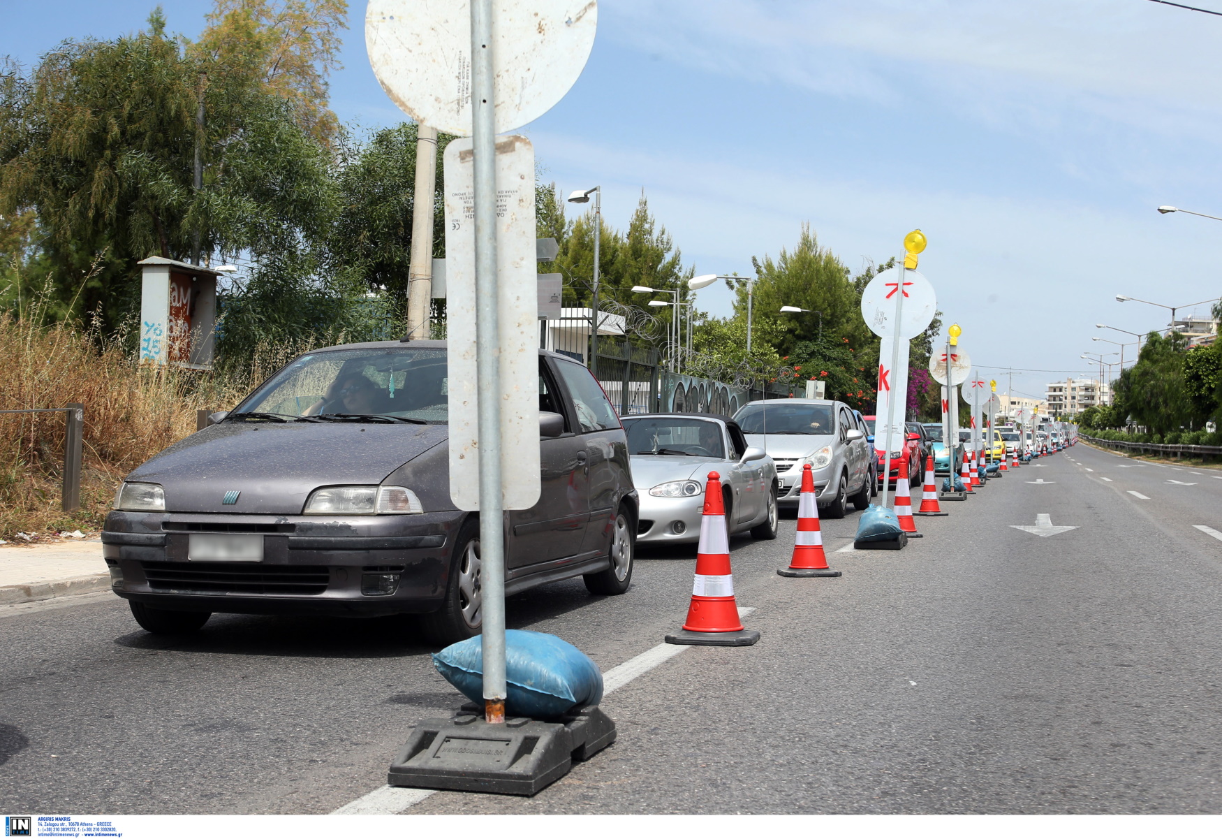
[[[127,476],[101,534],[112,588],[150,632],[214,612],[420,615],[448,643],[481,625],[478,514],[450,499],[446,349],[308,352],[216,424]],[[589,371],[539,353],[541,494],[505,515],[506,593],[632,580],[627,439]]]

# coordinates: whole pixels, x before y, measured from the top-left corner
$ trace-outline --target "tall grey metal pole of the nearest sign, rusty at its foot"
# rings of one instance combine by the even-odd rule
[[[479,382],[479,554],[484,717],[505,722],[505,514],[501,509],[500,294],[496,276],[496,127],[492,0],[472,0],[472,144],[475,207],[475,375]]]

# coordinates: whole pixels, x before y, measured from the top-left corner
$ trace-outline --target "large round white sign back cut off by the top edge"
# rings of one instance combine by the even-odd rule
[[[596,0],[494,0],[496,133],[539,119],[573,87],[594,46]],[[369,64],[417,122],[470,136],[470,4],[369,0]]]

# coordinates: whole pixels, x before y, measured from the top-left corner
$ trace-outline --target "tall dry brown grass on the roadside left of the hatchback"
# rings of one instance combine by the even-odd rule
[[[196,431],[198,408],[227,410],[285,361],[309,349],[263,347],[244,371],[137,366],[117,340],[68,323],[0,314],[0,408],[84,405],[81,509],[60,510],[62,413],[0,415],[0,538],[20,532],[97,531],[122,477]]]

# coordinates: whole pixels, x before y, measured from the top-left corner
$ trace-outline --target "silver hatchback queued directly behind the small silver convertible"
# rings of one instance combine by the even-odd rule
[[[810,464],[815,498],[829,519],[841,519],[848,503],[864,510],[874,494],[874,451],[853,410],[827,399],[764,399],[748,402],[734,421],[748,444],[761,446],[776,464],[777,500],[797,505],[802,468]]]

